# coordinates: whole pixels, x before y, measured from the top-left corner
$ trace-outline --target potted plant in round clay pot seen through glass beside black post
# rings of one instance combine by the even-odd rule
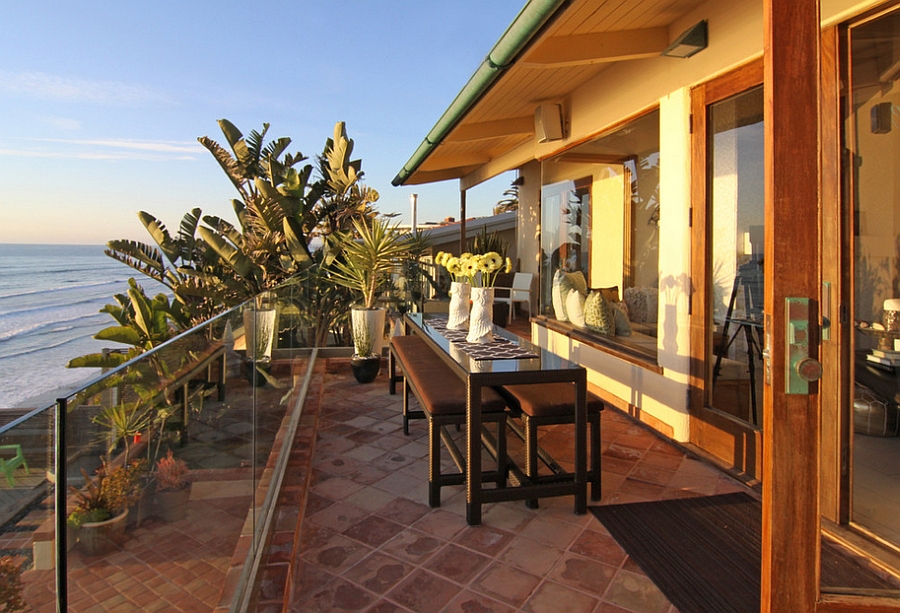
[[[73,488],[75,509],[67,518],[68,525],[77,532],[78,544],[88,555],[102,555],[115,550],[124,540],[128,507],[141,495],[140,477],[143,460],[115,468],[107,462],[91,478],[87,471],[84,487]]]

